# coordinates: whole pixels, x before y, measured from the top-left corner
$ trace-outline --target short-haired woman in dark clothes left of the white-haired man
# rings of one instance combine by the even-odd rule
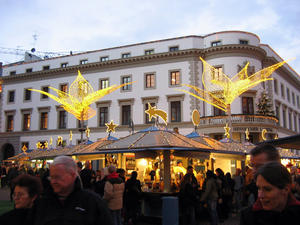
[[[12,181],[15,209],[0,216],[1,224],[30,224],[30,209],[42,192],[42,184],[38,177],[28,174],[19,175]]]

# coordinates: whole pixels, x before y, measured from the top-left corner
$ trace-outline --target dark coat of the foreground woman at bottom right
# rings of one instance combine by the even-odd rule
[[[290,196],[282,212],[264,210],[257,200],[254,205],[241,213],[240,225],[285,225],[300,221],[300,202]]]

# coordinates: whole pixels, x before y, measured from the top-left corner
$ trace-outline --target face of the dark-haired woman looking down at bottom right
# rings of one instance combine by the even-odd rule
[[[256,179],[258,187],[258,199],[264,210],[282,211],[287,203],[289,187],[283,189],[270,184],[263,176],[258,175]]]

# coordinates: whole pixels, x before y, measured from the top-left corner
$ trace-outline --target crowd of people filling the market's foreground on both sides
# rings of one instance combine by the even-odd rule
[[[192,166],[180,183],[180,223],[201,224],[209,217],[220,224],[239,213],[241,225],[290,224],[300,221],[300,176],[280,164],[272,145],[250,152],[245,171],[232,176],[221,168],[207,170],[200,185]],[[4,224],[137,224],[141,204],[141,182],[133,171],[110,165],[93,171],[86,161],[56,157],[50,169],[34,171],[15,165],[1,168],[1,187],[11,187],[15,209],[0,217]],[[288,222],[287,222],[288,221]]]

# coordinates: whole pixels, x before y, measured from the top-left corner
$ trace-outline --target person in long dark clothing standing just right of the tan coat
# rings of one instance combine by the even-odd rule
[[[137,179],[137,172],[133,171],[125,183],[125,224],[137,224],[141,193],[141,182]]]

